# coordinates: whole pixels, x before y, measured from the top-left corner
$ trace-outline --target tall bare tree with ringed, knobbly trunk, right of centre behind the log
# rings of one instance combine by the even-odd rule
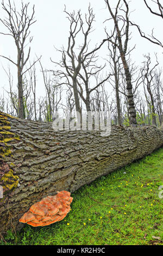
[[[126,82],[127,82],[126,88],[127,88],[127,98],[128,98],[128,105],[129,105],[130,123],[132,126],[137,126],[136,110],[135,110],[134,95],[133,95],[133,85],[131,83],[131,74],[130,74],[128,63],[126,60],[128,41],[129,41],[129,7],[126,0],[123,0],[124,7],[126,9],[125,10],[122,9],[122,6],[120,7],[121,0],[119,0],[116,5],[115,13],[113,13],[111,10],[109,1],[105,0],[105,3],[111,15],[111,20],[114,21],[114,29],[113,29],[113,32],[111,32],[111,35],[109,35],[106,32],[107,39],[104,39],[103,41],[109,41],[111,42],[111,44],[116,45],[120,52],[120,56],[121,56],[121,60],[124,68],[124,74],[126,76]],[[118,11],[120,10],[125,13],[125,19],[126,19],[125,21],[122,15],[118,15]],[[124,26],[125,26],[125,29],[124,29]],[[114,38],[115,33],[117,34],[117,42],[112,40]],[[125,36],[124,42],[123,42],[123,36]]]

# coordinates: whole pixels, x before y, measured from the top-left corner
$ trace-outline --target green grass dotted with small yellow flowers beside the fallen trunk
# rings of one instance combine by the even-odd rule
[[[61,222],[25,224],[16,236],[8,231],[0,245],[163,245],[162,170],[163,148],[72,193]]]

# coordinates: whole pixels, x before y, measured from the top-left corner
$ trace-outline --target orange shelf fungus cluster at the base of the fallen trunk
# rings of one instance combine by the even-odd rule
[[[33,227],[43,227],[63,220],[70,211],[73,199],[70,195],[68,191],[57,191],[56,196],[43,198],[40,202],[33,204],[19,221]]]

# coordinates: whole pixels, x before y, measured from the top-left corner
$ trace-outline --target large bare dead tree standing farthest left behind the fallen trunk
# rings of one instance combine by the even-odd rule
[[[2,56],[5,59],[8,59],[12,64],[17,66],[17,81],[18,81],[18,117],[24,118],[24,111],[23,111],[23,75],[31,68],[32,65],[30,65],[29,68],[24,70],[24,67],[26,66],[29,56],[30,56],[30,47],[28,49],[27,57],[25,57],[24,48],[32,42],[33,37],[29,36],[30,26],[33,25],[33,23],[36,22],[34,20],[34,6],[33,6],[33,12],[32,15],[28,15],[28,4],[24,4],[22,1],[22,7],[21,10],[18,12],[15,7],[15,3],[13,3],[13,6],[11,5],[10,0],[8,0],[8,4],[5,4],[4,1],[2,1],[2,8],[7,14],[7,17],[5,19],[0,19],[0,21],[3,23],[3,25],[7,28],[9,31],[8,33],[0,32],[3,35],[10,35],[15,41],[15,45],[17,48],[17,62],[14,60]],[[27,41],[27,39],[29,40]]]

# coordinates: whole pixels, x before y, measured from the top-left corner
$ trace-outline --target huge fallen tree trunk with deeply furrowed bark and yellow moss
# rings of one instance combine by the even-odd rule
[[[29,207],[57,191],[76,191],[163,145],[156,126],[112,126],[99,132],[55,132],[52,124],[0,112],[0,233],[19,230]]]

